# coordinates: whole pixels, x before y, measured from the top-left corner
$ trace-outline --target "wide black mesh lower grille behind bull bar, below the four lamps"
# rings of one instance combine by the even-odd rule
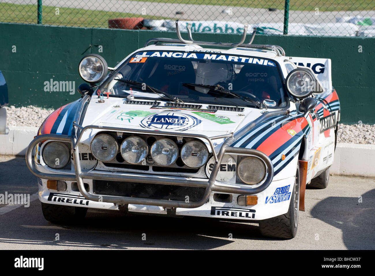
[[[163,199],[196,202],[203,198],[205,188],[185,187],[163,184],[120,182],[94,180],[94,193],[108,196],[125,196],[129,198]]]

